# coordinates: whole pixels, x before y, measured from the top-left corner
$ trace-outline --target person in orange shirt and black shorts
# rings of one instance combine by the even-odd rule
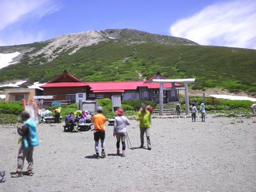
[[[106,123],[106,116],[103,114],[103,108],[98,107],[97,108],[97,114],[93,115],[92,122],[94,124],[94,141],[95,141],[95,152],[96,152],[96,158],[99,159],[99,140],[101,142],[101,157],[106,157],[105,154],[105,123]]]

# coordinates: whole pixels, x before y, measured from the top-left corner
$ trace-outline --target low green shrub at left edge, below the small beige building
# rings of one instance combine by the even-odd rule
[[[0,102],[0,113],[19,115],[22,111],[21,102]]]

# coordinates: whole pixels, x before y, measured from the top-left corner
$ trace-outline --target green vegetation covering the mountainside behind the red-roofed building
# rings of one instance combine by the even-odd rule
[[[220,87],[230,92],[256,92],[256,50],[203,46],[183,38],[131,29],[99,33],[106,40],[82,47],[74,54],[70,52],[76,47],[65,49],[52,61],[47,61],[44,52],[31,57],[51,40],[0,47],[0,52],[28,49],[19,64],[0,70],[0,82],[12,79],[28,79],[27,84],[47,82],[63,70],[83,81],[132,81],[161,72],[171,79],[195,77],[194,89]]]

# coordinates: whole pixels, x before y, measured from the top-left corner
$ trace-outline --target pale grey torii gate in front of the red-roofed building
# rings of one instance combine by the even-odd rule
[[[189,115],[189,94],[188,83],[195,83],[195,79],[153,79],[153,83],[159,83],[159,115],[164,111],[164,83],[184,83],[184,88],[175,88],[176,90],[185,90],[186,115]]]

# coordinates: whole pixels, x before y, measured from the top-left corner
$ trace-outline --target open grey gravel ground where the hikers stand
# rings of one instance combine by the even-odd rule
[[[0,191],[256,191],[256,124],[246,118],[153,119],[152,150],[134,148],[115,156],[112,127],[106,127],[105,159],[93,159],[93,132],[63,132],[62,124],[40,124],[35,175],[11,179],[19,138],[0,129]],[[140,146],[138,122],[129,126]],[[25,163],[25,168],[28,164]],[[26,171],[26,170],[24,170]]]

